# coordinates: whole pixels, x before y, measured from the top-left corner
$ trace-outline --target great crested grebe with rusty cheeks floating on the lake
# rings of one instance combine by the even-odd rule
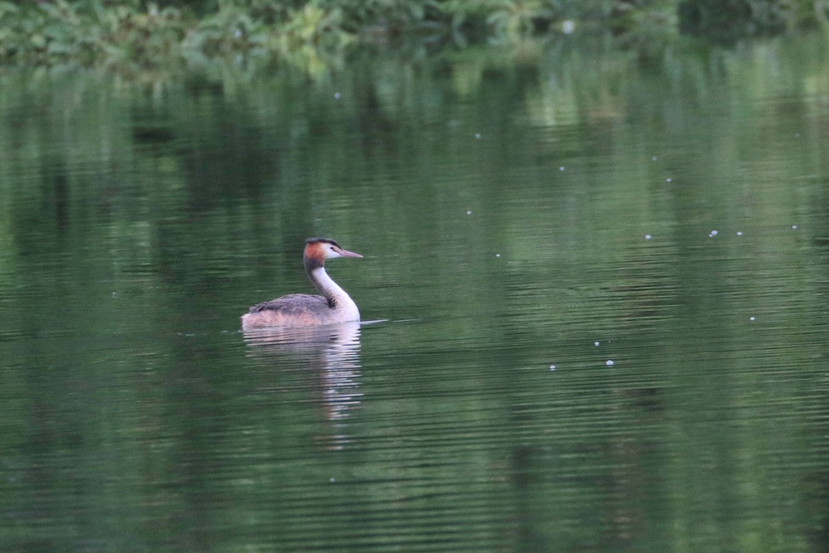
[[[357,304],[325,272],[325,260],[336,257],[362,257],[343,250],[328,238],[305,240],[303,264],[305,273],[322,296],[291,293],[269,302],[259,303],[242,315],[242,328],[317,327],[323,324],[347,323],[360,320]],[[324,296],[324,297],[323,297]]]

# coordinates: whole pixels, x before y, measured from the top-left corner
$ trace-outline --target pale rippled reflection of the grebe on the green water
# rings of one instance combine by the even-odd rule
[[[305,361],[313,378],[313,389],[332,433],[323,439],[331,449],[348,442],[342,422],[360,405],[360,323],[339,323],[323,327],[270,328],[245,331],[250,355],[293,357]],[[305,367],[303,367],[305,370]]]

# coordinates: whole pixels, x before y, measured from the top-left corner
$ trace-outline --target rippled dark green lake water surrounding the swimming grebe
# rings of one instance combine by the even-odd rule
[[[2,75],[0,550],[824,551],[822,38],[530,54]]]

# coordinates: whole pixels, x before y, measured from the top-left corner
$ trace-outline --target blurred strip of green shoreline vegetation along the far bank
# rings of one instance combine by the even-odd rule
[[[829,0],[0,0],[0,67],[121,73],[227,61],[321,75],[360,46],[439,49],[572,33],[734,44],[825,25]]]

